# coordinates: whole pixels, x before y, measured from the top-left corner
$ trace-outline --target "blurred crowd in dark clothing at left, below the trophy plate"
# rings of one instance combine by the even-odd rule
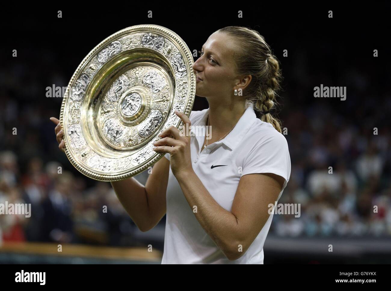
[[[109,183],[87,187],[83,176],[38,156],[24,171],[13,151],[0,153],[0,169],[0,203],[31,204],[30,217],[0,215],[3,241],[137,245],[137,227]]]

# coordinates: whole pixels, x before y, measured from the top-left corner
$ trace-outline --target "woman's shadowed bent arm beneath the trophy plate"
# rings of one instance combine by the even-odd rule
[[[170,161],[165,157],[155,163],[143,186],[134,177],[111,182],[118,200],[140,231],[152,229],[166,213],[166,191]]]

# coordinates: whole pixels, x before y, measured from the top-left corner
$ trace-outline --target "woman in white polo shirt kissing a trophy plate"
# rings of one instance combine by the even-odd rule
[[[154,144],[166,158],[145,186],[134,177],[111,185],[141,231],[167,213],[162,264],[263,264],[271,205],[291,174],[287,141],[269,113],[280,86],[278,61],[264,38],[245,27],[217,30],[200,53],[196,94],[209,108],[177,115],[189,127],[210,126],[211,134],[167,128]],[[58,120],[52,121],[63,149]]]

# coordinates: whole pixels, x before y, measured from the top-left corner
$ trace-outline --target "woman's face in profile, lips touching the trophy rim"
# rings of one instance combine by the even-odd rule
[[[234,62],[236,50],[232,38],[227,34],[214,32],[210,35],[202,46],[203,53],[193,64],[197,75],[197,96],[221,99],[233,95],[234,87],[239,82]]]

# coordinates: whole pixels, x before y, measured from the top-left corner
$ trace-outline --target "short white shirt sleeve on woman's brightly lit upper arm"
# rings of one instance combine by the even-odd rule
[[[249,151],[243,163],[242,176],[257,173],[273,173],[282,176],[288,183],[291,176],[291,157],[287,140],[281,133],[256,143]]]

